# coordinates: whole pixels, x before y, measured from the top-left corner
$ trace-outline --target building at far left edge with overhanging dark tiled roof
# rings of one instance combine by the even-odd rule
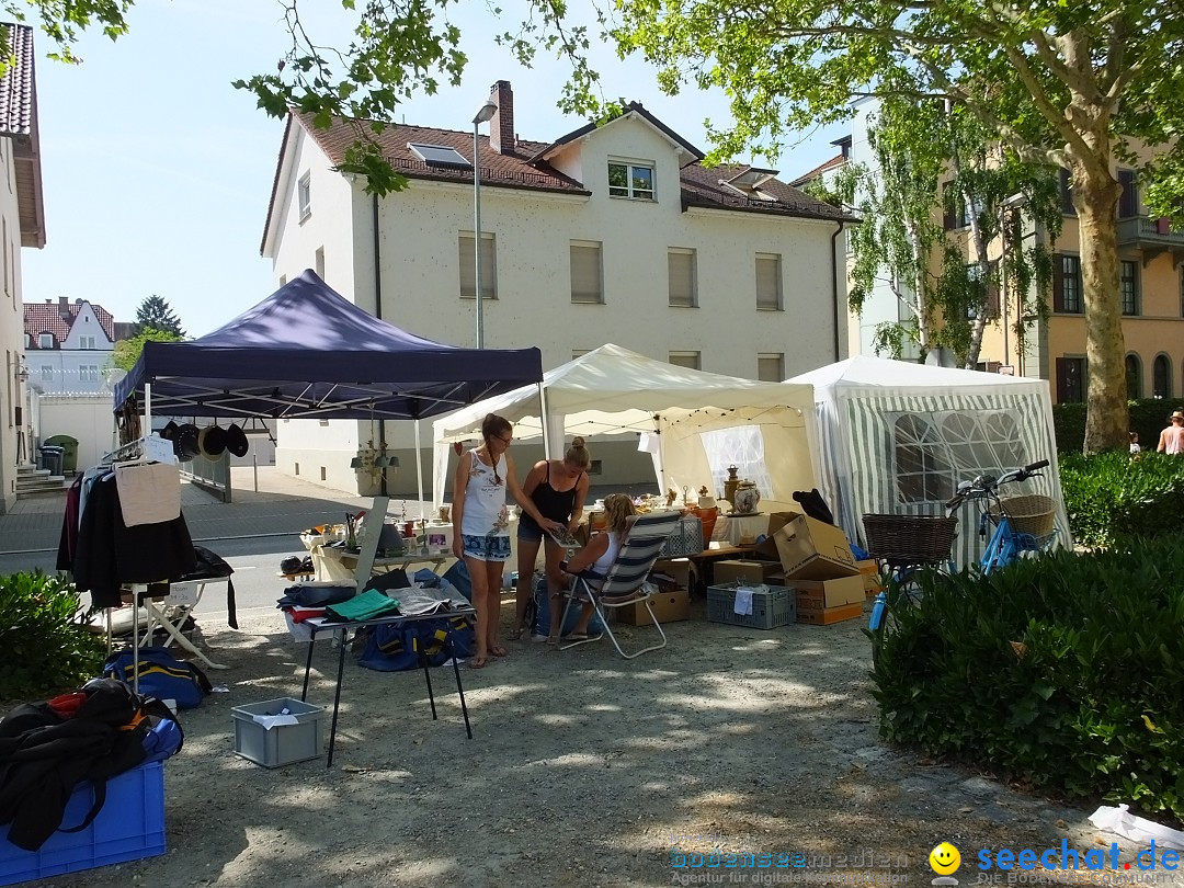
[[[20,247],[45,246],[45,204],[41,198],[41,148],[37,123],[37,76],[33,30],[0,25],[7,31],[9,65],[0,77],[0,514],[17,498],[17,466],[31,462],[30,417],[25,388],[27,369],[21,353],[22,305]]]

